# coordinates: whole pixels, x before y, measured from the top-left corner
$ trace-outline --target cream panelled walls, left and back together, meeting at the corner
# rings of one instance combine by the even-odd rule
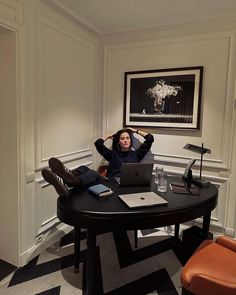
[[[56,217],[57,196],[41,169],[51,156],[71,168],[98,163],[93,141],[122,127],[130,70],[204,66],[201,130],[149,129],[152,152],[156,163],[182,173],[192,157],[182,149],[186,142],[212,149],[203,173],[220,189],[212,224],[234,235],[234,20],[96,36],[44,1],[0,0],[0,27],[12,32],[3,37],[11,46],[0,37],[0,62],[10,71],[0,72],[0,179],[8,192],[0,197],[1,259],[23,265],[70,230]]]

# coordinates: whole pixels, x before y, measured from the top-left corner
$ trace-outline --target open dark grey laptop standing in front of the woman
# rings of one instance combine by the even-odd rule
[[[145,186],[152,180],[153,163],[123,163],[120,186]]]

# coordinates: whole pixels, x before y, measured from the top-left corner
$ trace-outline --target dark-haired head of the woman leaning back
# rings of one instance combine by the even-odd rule
[[[117,152],[129,151],[132,147],[132,132],[129,129],[121,129],[113,135],[112,149]]]

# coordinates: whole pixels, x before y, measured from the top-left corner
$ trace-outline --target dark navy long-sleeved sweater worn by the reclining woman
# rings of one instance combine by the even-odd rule
[[[154,141],[152,134],[147,134],[145,141],[140,145],[137,150],[130,150],[128,152],[117,152],[108,149],[104,145],[104,140],[99,138],[95,141],[95,147],[99,154],[101,154],[108,162],[107,177],[120,176],[121,164],[122,163],[138,163],[140,162],[147,152],[150,150]]]

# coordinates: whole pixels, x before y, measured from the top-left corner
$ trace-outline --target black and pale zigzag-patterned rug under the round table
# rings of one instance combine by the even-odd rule
[[[99,295],[181,294],[181,263],[172,250],[158,254],[152,247],[157,241],[165,243],[171,234],[166,228],[139,231],[137,249],[133,248],[132,231],[128,232],[129,241],[125,236],[113,233],[98,235],[96,263]],[[73,238],[71,232],[26,266],[16,270],[13,267],[5,278],[0,276],[0,294],[83,295],[86,240],[81,242],[80,271],[74,273]],[[123,247],[126,242],[131,245],[129,251]],[[150,246],[148,251],[152,252],[149,258],[143,251],[146,246]],[[7,271],[4,273],[7,274]]]

